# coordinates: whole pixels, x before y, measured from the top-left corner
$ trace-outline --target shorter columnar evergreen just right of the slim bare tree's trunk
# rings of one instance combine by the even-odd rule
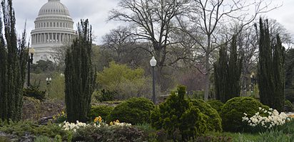
[[[220,48],[219,59],[213,64],[216,99],[225,103],[228,99],[240,96],[240,75],[243,58],[237,53],[236,38],[233,36],[230,44],[230,57],[227,52],[228,45]]]

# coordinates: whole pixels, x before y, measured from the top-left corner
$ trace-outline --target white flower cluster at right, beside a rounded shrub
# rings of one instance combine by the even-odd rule
[[[260,112],[268,114],[268,116],[260,116]],[[285,124],[286,120],[290,120],[287,114],[279,112],[275,109],[269,109],[268,111],[259,107],[259,111],[252,117],[248,118],[247,114],[242,117],[242,121],[247,121],[249,126],[261,126],[265,129],[272,129],[275,126],[281,126]]]

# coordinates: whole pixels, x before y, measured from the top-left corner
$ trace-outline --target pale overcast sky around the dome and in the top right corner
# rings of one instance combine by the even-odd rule
[[[13,0],[14,10],[16,12],[16,30],[21,33],[26,21],[28,33],[34,28],[34,21],[38,16],[41,6],[48,0]],[[281,23],[294,35],[294,0],[276,0],[283,6],[266,13],[265,16],[273,18]],[[118,0],[61,0],[74,19],[78,23],[81,18],[89,19],[93,26],[93,35],[96,36],[95,43],[101,43],[101,36],[108,33],[112,28],[118,26],[118,23],[106,22],[108,12],[116,8]],[[76,26],[75,26],[76,27]],[[28,34],[29,36],[30,34]]]

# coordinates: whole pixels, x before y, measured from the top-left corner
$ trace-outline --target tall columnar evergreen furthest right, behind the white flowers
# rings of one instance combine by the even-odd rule
[[[285,104],[285,48],[280,41],[280,36],[270,38],[268,20],[260,18],[259,37],[259,62],[258,62],[258,87],[260,102],[283,111]]]

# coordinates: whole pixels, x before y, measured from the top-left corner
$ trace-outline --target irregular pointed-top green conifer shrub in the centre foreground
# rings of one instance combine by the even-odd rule
[[[181,135],[181,140],[195,138],[206,132],[205,115],[196,107],[191,107],[185,99],[186,87],[179,86],[177,92],[171,92],[166,102],[151,113],[151,124],[156,129],[164,129],[168,138],[175,140],[176,133]]]

